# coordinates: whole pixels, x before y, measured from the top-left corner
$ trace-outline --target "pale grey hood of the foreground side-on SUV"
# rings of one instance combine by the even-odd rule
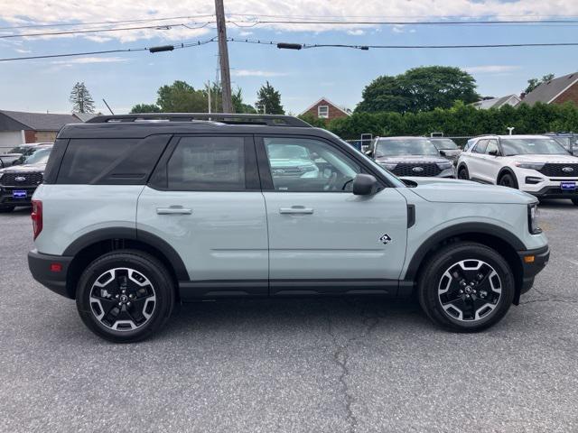
[[[442,203],[522,204],[536,203],[526,192],[471,180],[404,177],[417,184],[411,190],[427,201]]]

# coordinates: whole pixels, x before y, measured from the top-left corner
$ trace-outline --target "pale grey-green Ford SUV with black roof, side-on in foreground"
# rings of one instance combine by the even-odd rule
[[[66,125],[33,196],[33,277],[76,299],[98,336],[143,339],[193,299],[413,293],[436,324],[479,331],[548,261],[537,200],[522,192],[408,187],[290,116],[159,116]],[[275,173],[274,146],[324,167]]]

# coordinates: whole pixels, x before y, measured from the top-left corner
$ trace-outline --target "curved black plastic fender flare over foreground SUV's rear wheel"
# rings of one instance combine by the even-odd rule
[[[65,250],[62,255],[64,256],[76,256],[80,251],[86,247],[97,244],[98,242],[113,240],[113,239],[129,239],[134,241],[140,241],[144,244],[152,246],[154,249],[158,250],[160,253],[166,257],[169,263],[172,264],[174,273],[179,281],[189,281],[189,272],[182,262],[182,258],[177,253],[174,248],[166,241],[161,239],[157,235],[146,232],[144,230],[136,230],[136,228],[130,227],[110,227],[110,228],[99,228],[85,235],[81,235],[78,239],[74,240]]]

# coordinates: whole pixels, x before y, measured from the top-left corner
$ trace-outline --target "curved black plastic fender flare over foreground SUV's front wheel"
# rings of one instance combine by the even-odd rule
[[[404,280],[415,281],[417,279],[417,272],[419,271],[421,264],[424,262],[425,256],[436,244],[455,236],[471,234],[492,235],[499,237],[501,240],[509,244],[515,251],[527,250],[526,245],[517,237],[517,235],[514,235],[505,228],[489,223],[460,223],[443,228],[434,235],[431,235],[423,244],[420,245],[407,266]]]

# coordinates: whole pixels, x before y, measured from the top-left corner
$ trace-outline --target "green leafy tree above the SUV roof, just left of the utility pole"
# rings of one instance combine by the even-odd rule
[[[206,113],[207,96],[184,81],[174,81],[157,92],[156,105],[163,113]]]

